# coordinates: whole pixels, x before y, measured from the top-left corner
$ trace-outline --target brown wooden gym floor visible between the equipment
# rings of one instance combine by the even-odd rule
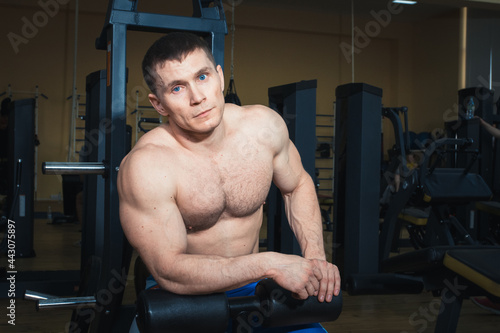
[[[50,203],[53,211],[61,211],[58,203]],[[35,210],[46,211],[47,203],[37,203]],[[35,258],[17,259],[19,270],[78,269],[81,226],[78,224],[47,224],[47,220],[35,220]],[[331,234],[325,233],[328,248]],[[6,258],[0,258],[5,266]],[[133,278],[128,279],[125,303],[133,304]],[[340,318],[325,323],[328,332],[403,333],[434,332],[437,316],[437,299],[429,293],[395,296],[349,296],[344,293],[344,306]],[[0,297],[0,332],[64,333],[71,318],[70,310],[45,310],[37,312],[32,302],[16,299],[16,325],[7,323],[6,307],[9,299]],[[500,316],[464,301],[457,332],[500,332]],[[126,332],[124,332],[126,333]]]

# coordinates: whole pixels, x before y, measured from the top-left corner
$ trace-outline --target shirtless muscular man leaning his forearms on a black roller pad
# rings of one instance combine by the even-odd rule
[[[168,122],[124,158],[120,218],[158,285],[207,294],[272,278],[297,298],[330,302],[339,271],[326,261],[314,184],[281,116],[225,104],[222,68],[195,35],[159,39],[142,66],[149,100]],[[271,181],[302,257],[258,252]]]

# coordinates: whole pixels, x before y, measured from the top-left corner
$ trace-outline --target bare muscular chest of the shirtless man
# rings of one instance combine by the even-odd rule
[[[255,213],[272,181],[272,158],[265,154],[199,159],[184,165],[177,205],[186,228],[208,229],[222,218]]]

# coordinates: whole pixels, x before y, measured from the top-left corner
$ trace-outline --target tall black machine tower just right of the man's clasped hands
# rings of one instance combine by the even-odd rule
[[[382,90],[352,83],[337,87],[336,97],[334,224],[344,239],[335,243],[344,243],[348,278],[378,272]]]

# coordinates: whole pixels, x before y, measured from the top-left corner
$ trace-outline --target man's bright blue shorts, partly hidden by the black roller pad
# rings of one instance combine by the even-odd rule
[[[146,280],[146,289],[156,288],[157,286],[158,284],[156,283],[156,281],[153,279],[152,276],[150,276]],[[249,283],[246,286],[226,291],[226,295],[228,298],[239,297],[239,296],[253,296],[255,295],[255,286],[257,286],[257,282]],[[137,324],[134,318],[134,322],[132,323],[132,327],[130,328],[130,333],[137,333],[137,332],[139,332],[139,330],[137,328]],[[241,325],[234,333],[292,333],[292,332],[327,333],[326,330],[318,323],[286,326],[286,327],[273,327],[273,328],[253,327],[249,324],[245,324]],[[233,333],[231,320],[229,321],[229,324],[227,326],[226,333]]]

